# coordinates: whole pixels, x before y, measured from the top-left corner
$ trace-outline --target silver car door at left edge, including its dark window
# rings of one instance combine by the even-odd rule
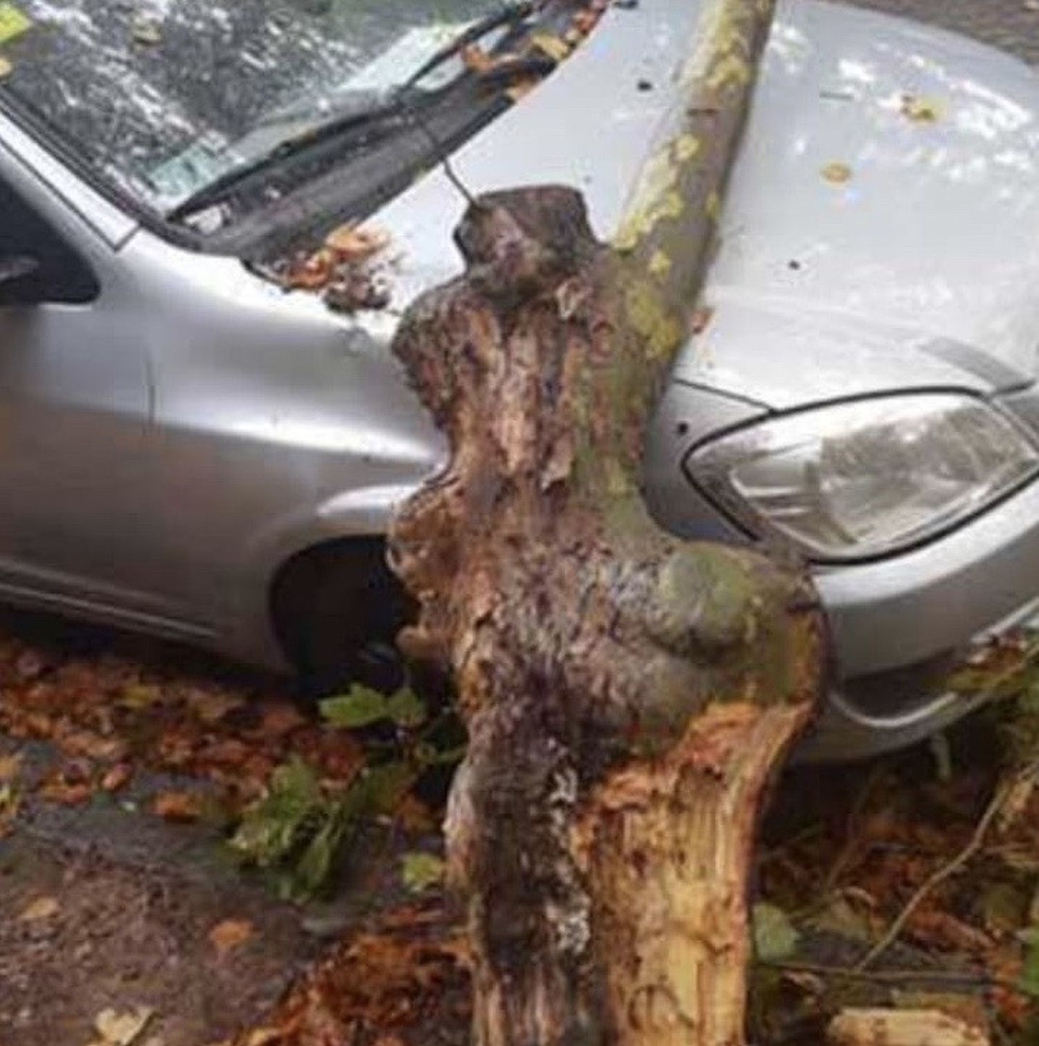
[[[142,585],[151,396],[132,301],[113,246],[0,149],[0,599],[170,611]]]

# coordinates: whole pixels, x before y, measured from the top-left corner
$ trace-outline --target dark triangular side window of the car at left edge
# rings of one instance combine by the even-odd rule
[[[0,305],[82,303],[98,290],[90,266],[0,179]]]

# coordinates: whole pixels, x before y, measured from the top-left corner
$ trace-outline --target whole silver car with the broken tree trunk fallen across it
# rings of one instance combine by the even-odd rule
[[[370,667],[380,535],[445,450],[387,345],[459,269],[459,186],[578,186],[609,237],[700,6],[0,4],[0,597]],[[647,493],[812,564],[814,757],[962,714],[948,665],[1039,595],[1037,115],[997,51],[780,4]],[[348,220],[378,288],[287,293]]]

